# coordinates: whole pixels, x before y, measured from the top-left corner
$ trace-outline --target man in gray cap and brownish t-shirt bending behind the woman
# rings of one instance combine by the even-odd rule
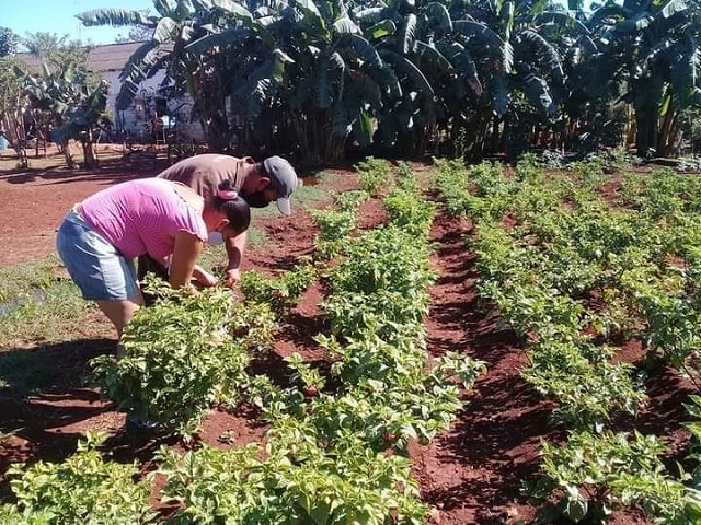
[[[253,208],[264,208],[277,201],[277,208],[284,215],[291,213],[290,197],[299,185],[292,165],[279,156],[269,156],[263,162],[255,162],[250,156],[239,159],[218,153],[205,153],[176,162],[161,172],[158,177],[182,183],[193,188],[205,199],[217,194],[219,184],[229,179],[234,190]],[[241,261],[248,240],[246,232],[235,236],[221,238],[219,234],[210,237],[210,243],[223,241],[229,262],[226,269],[227,285],[232,287],[241,279]],[[154,266],[156,265],[156,266]],[[163,273],[163,269],[154,260],[139,259],[139,278],[147,271]],[[212,282],[214,284],[214,278]]]

